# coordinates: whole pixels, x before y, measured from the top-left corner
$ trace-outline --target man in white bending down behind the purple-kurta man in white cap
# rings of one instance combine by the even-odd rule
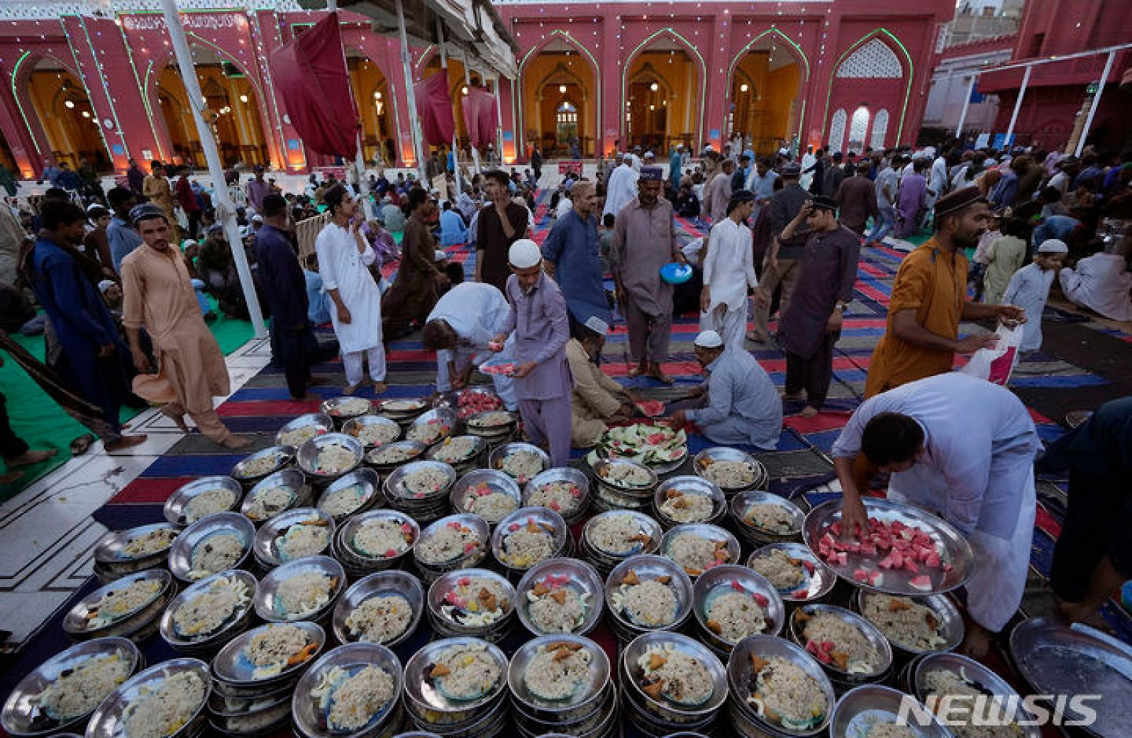
[[[457,387],[463,386],[471,367],[492,355],[514,360],[514,342],[505,343],[499,354],[492,354],[488,346],[503,332],[509,315],[507,298],[484,282],[463,282],[440,298],[428,316],[422,336],[424,347],[436,350],[437,392],[448,392],[454,380]],[[492,375],[491,381],[507,410],[518,407],[514,379]]]

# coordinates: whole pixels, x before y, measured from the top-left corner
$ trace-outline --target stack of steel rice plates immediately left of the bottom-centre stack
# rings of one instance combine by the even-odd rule
[[[495,738],[511,724],[507,657],[486,641],[456,637],[429,643],[405,663],[404,685],[406,728]]]

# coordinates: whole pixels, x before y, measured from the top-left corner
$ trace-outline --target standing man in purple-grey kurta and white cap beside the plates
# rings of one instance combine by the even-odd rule
[[[508,250],[513,274],[507,277],[511,315],[491,343],[503,349],[515,332],[515,396],[523,427],[531,441],[550,453],[554,466],[569,463],[571,400],[574,381],[566,362],[569,323],[566,300],[554,280],[542,272],[542,252],[530,239]]]

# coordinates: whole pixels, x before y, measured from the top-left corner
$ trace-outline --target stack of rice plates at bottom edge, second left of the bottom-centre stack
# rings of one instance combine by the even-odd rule
[[[358,679],[359,686],[349,684],[351,679]],[[295,685],[291,701],[294,735],[389,738],[401,727],[403,684],[401,662],[393,651],[376,643],[341,645],[315,661]],[[335,698],[345,689],[351,689],[355,700],[365,698],[365,706],[336,711]]]

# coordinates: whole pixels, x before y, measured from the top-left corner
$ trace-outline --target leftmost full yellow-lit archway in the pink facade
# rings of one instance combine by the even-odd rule
[[[91,98],[69,69],[50,57],[40,59],[27,77],[27,96],[46,135],[40,146],[55,162],[72,170],[84,161],[100,172],[113,169]]]

